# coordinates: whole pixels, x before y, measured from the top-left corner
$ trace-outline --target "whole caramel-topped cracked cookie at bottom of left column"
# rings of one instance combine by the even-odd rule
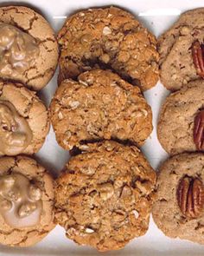
[[[35,160],[0,158],[0,243],[32,246],[54,228],[53,180]]]

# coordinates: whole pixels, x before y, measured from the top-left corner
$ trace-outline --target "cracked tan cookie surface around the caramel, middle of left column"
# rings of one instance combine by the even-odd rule
[[[21,154],[34,154],[38,152],[49,131],[47,108],[34,91],[26,89],[21,83],[17,82],[0,81],[0,100],[12,103],[18,115],[28,121],[32,132],[32,140]],[[1,126],[3,126],[2,123]],[[0,152],[0,155],[3,155],[3,153]]]

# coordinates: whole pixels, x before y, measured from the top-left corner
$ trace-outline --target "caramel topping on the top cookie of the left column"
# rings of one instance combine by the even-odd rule
[[[35,38],[7,23],[0,23],[0,75],[16,76],[28,70],[39,56]]]

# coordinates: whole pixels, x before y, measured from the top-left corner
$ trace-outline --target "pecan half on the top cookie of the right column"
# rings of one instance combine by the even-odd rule
[[[204,44],[198,40],[192,44],[192,56],[197,74],[204,78]]]

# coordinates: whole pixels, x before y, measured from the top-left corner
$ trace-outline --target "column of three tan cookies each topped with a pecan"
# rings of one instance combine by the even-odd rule
[[[160,168],[153,217],[163,233],[204,244],[204,9],[190,10],[159,39],[163,103],[157,135],[171,155]]]

